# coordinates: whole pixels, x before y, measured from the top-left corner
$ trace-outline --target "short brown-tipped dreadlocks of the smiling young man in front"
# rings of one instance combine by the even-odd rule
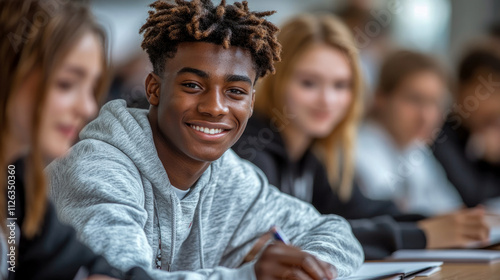
[[[245,48],[252,54],[257,77],[274,73],[273,63],[280,60],[281,52],[276,38],[279,29],[264,17],[275,11],[252,12],[247,1],[226,5],[225,0],[218,6],[210,0],[157,0],[150,7],[154,10],[149,11],[139,33],[144,32],[141,46],[156,74],[164,71],[165,60],[174,57],[177,45],[183,42]]]

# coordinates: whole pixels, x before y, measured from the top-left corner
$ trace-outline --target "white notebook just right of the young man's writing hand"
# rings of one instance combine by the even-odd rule
[[[370,262],[353,275],[337,280],[409,279],[429,276],[440,270],[442,262]]]

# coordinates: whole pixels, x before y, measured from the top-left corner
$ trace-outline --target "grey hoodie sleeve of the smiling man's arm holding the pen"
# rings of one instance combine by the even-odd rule
[[[235,201],[244,204],[246,212],[226,248],[224,264],[234,265],[231,262],[237,252],[251,244],[250,240],[255,240],[256,232],[264,233],[277,225],[292,245],[334,265],[340,277],[357,270],[363,262],[363,250],[345,219],[337,215],[320,215],[310,204],[269,185],[262,171],[253,164],[239,158],[231,160],[240,163],[225,172],[227,178],[219,180],[228,182],[233,177],[246,185],[234,194],[239,196]]]

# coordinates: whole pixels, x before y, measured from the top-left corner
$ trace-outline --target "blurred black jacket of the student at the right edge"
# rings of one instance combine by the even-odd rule
[[[464,203],[474,207],[500,196],[500,164],[468,158],[466,146],[469,136],[469,131],[457,125],[451,117],[444,124],[432,149]]]

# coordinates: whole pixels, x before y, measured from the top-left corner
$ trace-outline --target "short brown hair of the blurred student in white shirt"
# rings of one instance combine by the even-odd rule
[[[418,72],[431,71],[448,83],[443,66],[432,56],[400,50],[390,54],[382,64],[378,79],[377,94],[391,95],[408,76]]]

